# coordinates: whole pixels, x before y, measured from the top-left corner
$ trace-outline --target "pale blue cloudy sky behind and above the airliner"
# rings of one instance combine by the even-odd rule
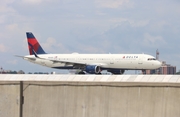
[[[0,67],[63,73],[14,55],[28,55],[26,32],[47,53],[150,54],[180,70],[179,0],[3,0]]]

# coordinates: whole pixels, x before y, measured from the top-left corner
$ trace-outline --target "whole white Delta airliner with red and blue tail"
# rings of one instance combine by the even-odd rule
[[[148,54],[48,54],[32,32],[26,32],[29,55],[19,56],[35,64],[56,69],[77,69],[78,74],[123,74],[125,70],[158,69],[161,62]]]

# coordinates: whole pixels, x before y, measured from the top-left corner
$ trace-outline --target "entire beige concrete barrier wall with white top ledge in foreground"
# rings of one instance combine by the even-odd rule
[[[179,76],[8,75],[0,76],[0,117],[20,117],[20,81],[23,117],[180,116]]]

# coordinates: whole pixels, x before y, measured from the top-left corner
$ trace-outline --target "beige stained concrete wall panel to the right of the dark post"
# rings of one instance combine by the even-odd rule
[[[30,84],[24,91],[24,117],[180,116],[178,86],[146,86],[141,83]]]

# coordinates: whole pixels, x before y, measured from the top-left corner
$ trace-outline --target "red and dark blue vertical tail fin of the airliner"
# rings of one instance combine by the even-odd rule
[[[46,52],[43,50],[43,48],[31,32],[26,32],[26,35],[30,55],[33,55],[34,52],[36,52],[36,54],[46,54]]]

